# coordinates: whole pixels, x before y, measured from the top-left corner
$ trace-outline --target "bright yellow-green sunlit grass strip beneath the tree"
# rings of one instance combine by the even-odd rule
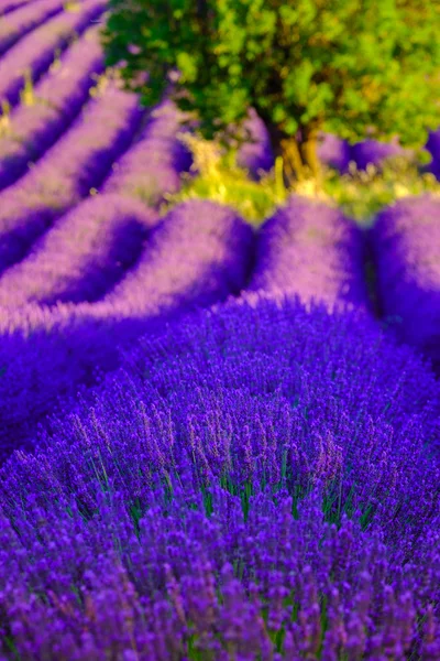
[[[229,205],[253,225],[260,225],[283,205],[289,193],[296,193],[338,206],[360,224],[371,225],[382,207],[400,197],[426,192],[440,195],[436,177],[421,173],[420,165],[405,156],[388,159],[381,170],[369,165],[366,171],[358,171],[352,163],[345,175],[324,169],[320,186],[308,180],[287,191],[280,160],[272,172],[254,182],[237,165],[234,151],[226,152],[215,142],[195,136],[185,134],[182,140],[193,152],[194,171],[183,175],[183,187],[166,197],[162,213],[179,202],[201,197]]]

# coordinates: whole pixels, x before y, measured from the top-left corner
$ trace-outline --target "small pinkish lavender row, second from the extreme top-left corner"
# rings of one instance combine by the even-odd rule
[[[0,22],[0,55],[28,32],[62,10],[63,0],[36,0],[2,18]]]

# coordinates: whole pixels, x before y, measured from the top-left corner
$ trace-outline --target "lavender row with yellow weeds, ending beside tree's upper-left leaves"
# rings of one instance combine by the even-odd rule
[[[94,78],[103,71],[98,30],[73,44],[34,89],[32,105],[18,106],[0,138],[0,188],[12,184],[59,138],[88,98]]]

